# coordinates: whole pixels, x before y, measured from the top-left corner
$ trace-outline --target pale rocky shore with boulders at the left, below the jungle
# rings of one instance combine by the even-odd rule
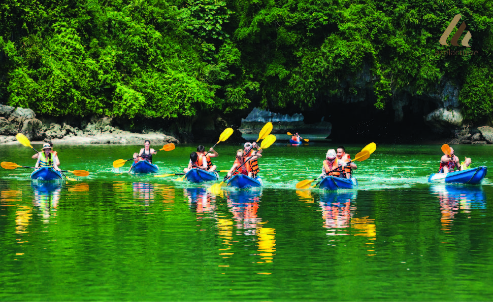
[[[144,144],[149,139],[153,144],[180,143],[162,131],[135,133],[111,126],[111,118],[93,118],[79,129],[68,124],[44,124],[36,119],[29,108],[0,105],[0,143],[16,143],[15,135],[24,134],[31,143],[51,141],[54,144]]]

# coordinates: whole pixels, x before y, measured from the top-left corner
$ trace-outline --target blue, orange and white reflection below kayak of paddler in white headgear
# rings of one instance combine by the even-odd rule
[[[349,235],[346,232],[340,231],[350,226],[351,211],[354,212],[356,210],[355,206],[351,208],[351,201],[354,201],[356,196],[357,191],[320,193],[323,227],[331,231],[326,235]]]

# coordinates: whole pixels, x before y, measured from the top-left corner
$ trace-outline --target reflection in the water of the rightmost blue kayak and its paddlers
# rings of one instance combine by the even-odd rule
[[[471,218],[471,209],[486,209],[486,194],[480,185],[437,183],[430,186],[430,191],[440,201],[442,230],[446,233],[457,213]]]

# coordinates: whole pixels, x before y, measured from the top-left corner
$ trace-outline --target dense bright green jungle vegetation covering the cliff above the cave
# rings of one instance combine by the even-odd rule
[[[477,56],[441,56],[461,14]],[[307,108],[356,93],[461,87],[463,113],[491,118],[489,0],[5,0],[0,103],[50,116],[125,119]],[[459,39],[460,42],[460,39]],[[366,66],[366,67],[365,67]]]

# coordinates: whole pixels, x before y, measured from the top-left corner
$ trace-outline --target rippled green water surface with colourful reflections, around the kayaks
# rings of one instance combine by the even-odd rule
[[[217,195],[178,176],[128,175],[130,162],[112,168],[140,147],[55,146],[63,170],[91,172],[63,184],[0,170],[0,300],[493,299],[493,186],[488,175],[427,183],[440,145],[378,145],[357,163],[357,191],[328,193],[294,185],[318,176],[336,145],[275,143],[259,160],[264,188]],[[216,147],[218,169],[239,147]],[[182,172],[194,148],[153,162]],[[454,149],[493,171],[493,146]],[[35,164],[21,145],[0,154]]]

